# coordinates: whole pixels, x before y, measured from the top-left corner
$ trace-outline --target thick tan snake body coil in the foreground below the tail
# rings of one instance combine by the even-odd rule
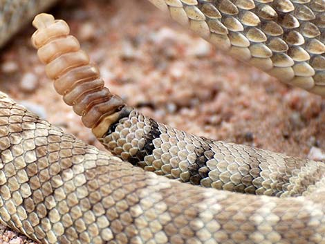
[[[325,180],[308,196],[205,189],[143,171],[0,93],[0,223],[42,244],[325,241]]]

